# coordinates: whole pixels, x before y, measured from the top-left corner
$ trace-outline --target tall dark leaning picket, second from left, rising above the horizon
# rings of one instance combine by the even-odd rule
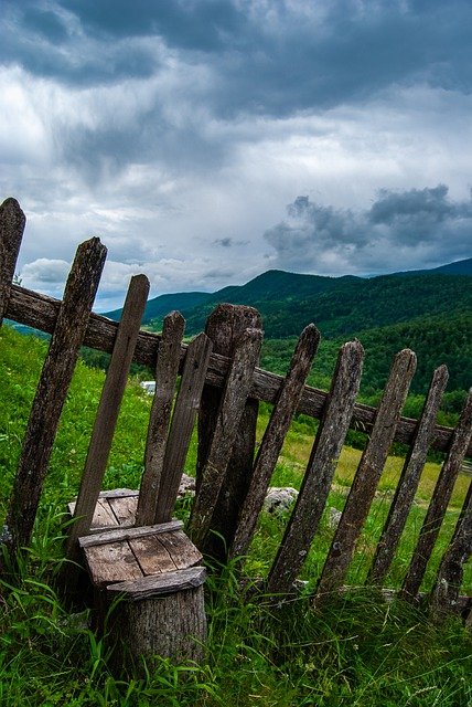
[[[99,239],[83,243],[67,279],[64,299],[31,408],[7,517],[9,551],[29,545],[61,411],[94,303],[107,249]]]

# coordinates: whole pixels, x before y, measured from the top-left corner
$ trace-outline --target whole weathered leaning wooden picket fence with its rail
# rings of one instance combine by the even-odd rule
[[[32,404],[19,467],[11,492],[2,542],[12,557],[31,539],[53,442],[78,350],[86,345],[111,354],[67,553],[76,557],[77,539],[87,535],[98,513],[99,494],[118,411],[132,360],[155,371],[144,472],[139,494],[122,525],[165,524],[172,518],[179,482],[197,416],[196,495],[189,535],[204,553],[217,559],[244,558],[253,541],[269,482],[296,413],[318,419],[319,426],[294,508],[265,591],[290,593],[320,528],[336,463],[350,429],[368,440],[334,532],[315,589],[318,598],[340,589],[374,500],[394,441],[408,445],[389,515],[368,572],[368,584],[382,587],[398,548],[415,499],[427,453],[444,453],[444,462],[400,590],[417,599],[465,457],[472,456],[472,391],[455,429],[436,423],[448,381],[444,366],[431,380],[418,421],[401,416],[416,356],[405,349],[394,360],[378,409],[356,402],[364,351],[358,341],[339,352],[331,390],[305,384],[319,345],[309,325],[300,336],[285,378],[257,368],[262,339],[259,314],[251,307],[219,305],[204,334],[182,342],[184,321],[170,314],[161,335],[141,331],[149,283],[131,279],[119,324],[92,313],[106,257],[98,239],[76,254],[62,302],[13,284],[24,215],[13,199],[0,208],[0,324],[3,318],[51,334],[49,352]],[[314,313],[315,314],[315,313]],[[179,395],[172,414],[178,376]],[[258,402],[273,403],[255,456]],[[471,612],[472,598],[461,597],[463,566],[472,551],[472,482],[444,552],[430,600],[438,610]],[[96,524],[97,525],[97,524]],[[95,528],[96,530],[97,528]],[[243,566],[243,561],[240,562]]]

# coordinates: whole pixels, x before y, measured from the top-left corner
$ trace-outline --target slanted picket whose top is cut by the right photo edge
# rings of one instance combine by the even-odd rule
[[[465,400],[461,416],[454,430],[452,445],[442,465],[431,502],[415,548],[407,576],[401,587],[401,595],[415,600],[431,557],[439,530],[444,519],[448,504],[454,488],[465,450],[472,436],[472,389]]]

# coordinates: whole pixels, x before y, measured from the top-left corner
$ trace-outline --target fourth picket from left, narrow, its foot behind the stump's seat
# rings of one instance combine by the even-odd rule
[[[165,317],[158,351],[155,393],[148,428],[144,472],[136,514],[138,526],[150,525],[155,519],[184,328],[185,320],[179,312],[172,312]]]

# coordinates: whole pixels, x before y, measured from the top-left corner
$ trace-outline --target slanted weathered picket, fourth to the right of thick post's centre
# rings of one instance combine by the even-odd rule
[[[401,408],[416,369],[416,356],[404,349],[394,359],[371,439],[362,455],[346,505],[317,588],[318,595],[340,587],[374,499]]]

